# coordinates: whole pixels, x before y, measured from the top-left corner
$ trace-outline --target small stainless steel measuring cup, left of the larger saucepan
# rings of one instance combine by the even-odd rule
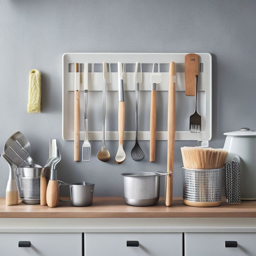
[[[59,186],[69,186],[70,200],[60,199],[61,202],[70,202],[73,206],[83,207],[92,204],[94,185],[90,182],[62,183]]]

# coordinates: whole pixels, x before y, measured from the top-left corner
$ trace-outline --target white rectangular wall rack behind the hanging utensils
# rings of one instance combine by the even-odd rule
[[[176,64],[176,131],[175,140],[197,140],[208,142],[212,136],[212,60],[209,53],[196,53],[199,56],[200,70],[198,77],[198,112],[202,116],[202,125],[200,133],[191,133],[189,131],[189,116],[194,112],[194,96],[185,96],[185,73],[184,73],[184,60],[187,53],[65,53],[63,55],[63,101],[62,101],[62,136],[64,140],[74,140],[74,71],[72,72],[71,66],[74,63],[90,63],[90,64],[101,64],[103,62],[112,64],[117,64],[118,62],[128,64],[134,64],[136,62],[143,64],[160,63],[169,65],[171,61]],[[80,65],[81,66],[81,65]],[[143,69],[143,68],[142,68]],[[142,70],[143,71],[143,70]],[[149,98],[151,96],[151,83],[150,76],[151,72],[143,71],[143,79],[140,84],[140,94],[142,92],[148,91],[143,97]],[[166,92],[168,95],[168,84],[169,84],[169,69],[168,71],[161,72],[162,82],[157,84],[157,93]],[[107,84],[107,101],[106,104],[109,108],[113,105],[116,109],[113,101],[117,102],[118,105],[118,94],[116,99],[108,99],[108,92],[118,91],[118,78],[117,71],[111,72],[111,83]],[[84,72],[80,73],[80,140],[84,138],[84,127],[83,127],[83,78]],[[95,102],[90,102],[90,92],[101,92],[103,85],[103,73],[102,72],[88,72],[88,139],[89,140],[102,140],[102,130],[95,131],[94,127],[89,126],[90,121],[95,123],[102,123],[102,105],[99,106],[99,112],[95,115],[90,115],[90,109],[95,107]],[[125,73],[125,93],[128,91],[135,91],[135,70],[134,72]],[[184,93],[184,94],[183,94]],[[102,94],[97,95],[100,100],[102,99]],[[178,97],[177,97],[178,96]],[[141,97],[141,96],[140,96]],[[192,97],[192,98],[191,98]],[[135,94],[134,94],[135,99]],[[187,102],[189,101],[189,104]],[[100,102],[100,101],[99,101]],[[126,102],[126,100],[125,100]],[[150,99],[149,99],[150,102]],[[167,108],[168,102],[160,102]],[[101,103],[102,104],[102,103]],[[140,105],[142,105],[140,99]],[[139,105],[139,108],[140,108]],[[187,106],[189,105],[189,106]],[[108,108],[108,109],[109,109]],[[150,111],[150,104],[146,106]],[[134,122],[135,118],[131,119],[129,117],[130,112],[135,112],[135,110],[129,109],[129,105],[126,104],[126,122]],[[108,119],[111,113],[106,112],[106,118]],[[167,111],[161,113],[163,119],[167,120]],[[157,113],[158,119],[159,113]],[[130,119],[131,120],[130,120]],[[90,120],[91,119],[91,120]],[[112,122],[117,124],[117,115],[111,115]],[[177,127],[177,123],[181,124]],[[149,123],[149,119],[148,119]],[[158,127],[161,124],[158,124]],[[117,126],[116,126],[117,127]],[[141,131],[140,129],[140,119],[139,119],[139,132],[138,140],[149,140],[150,132],[149,126],[148,130]],[[181,129],[179,129],[181,128]],[[106,129],[106,140],[118,140],[118,130],[107,130]],[[124,131],[124,140],[135,140],[135,129]],[[157,129],[156,140],[167,140],[167,126],[161,127],[161,130]]]

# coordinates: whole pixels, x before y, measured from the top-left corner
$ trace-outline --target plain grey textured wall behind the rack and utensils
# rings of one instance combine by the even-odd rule
[[[95,196],[123,196],[120,175],[130,170],[166,171],[167,142],[157,141],[156,162],[149,142],[140,142],[146,158],[130,157],[117,165],[118,142],[108,142],[111,159],[100,162],[100,141],[91,142],[91,162],[73,161],[73,141],[62,139],[62,55],[66,52],[208,52],[212,55],[213,116],[211,147],[223,147],[223,132],[255,129],[256,1],[0,1],[0,145],[21,131],[31,144],[34,162],[48,159],[49,138],[61,153],[58,178],[95,182]],[[41,113],[29,114],[28,77],[42,73]],[[182,196],[180,147],[176,141],[174,196]],[[80,147],[82,146],[82,141]],[[0,196],[9,169],[0,161]],[[162,179],[163,180],[163,179]],[[161,195],[164,183],[161,182]]]

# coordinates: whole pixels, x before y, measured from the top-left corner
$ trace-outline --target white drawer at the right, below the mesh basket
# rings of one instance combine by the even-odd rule
[[[185,233],[184,237],[185,256],[251,256],[256,252],[256,233]]]

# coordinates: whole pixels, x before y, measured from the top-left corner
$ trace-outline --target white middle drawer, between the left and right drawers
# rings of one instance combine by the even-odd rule
[[[182,256],[182,233],[86,233],[84,239],[85,256]]]

